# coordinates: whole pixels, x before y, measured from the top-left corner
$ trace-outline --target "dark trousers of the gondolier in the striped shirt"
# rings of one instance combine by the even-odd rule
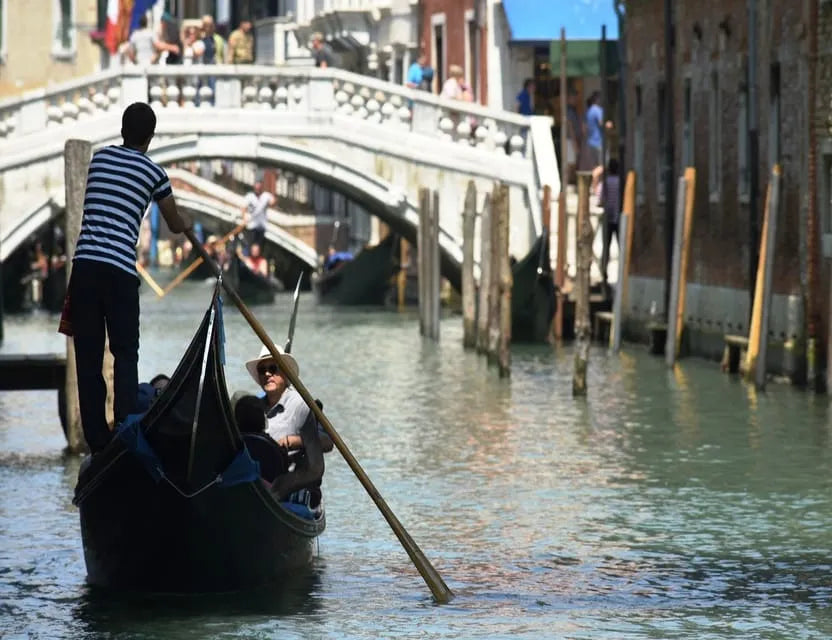
[[[110,441],[102,375],[105,337],[113,354],[115,423],[136,406],[139,387],[139,280],[117,267],[76,260],[70,283],[70,309],[78,399],[84,437],[95,453]],[[106,333],[105,333],[106,329]]]

